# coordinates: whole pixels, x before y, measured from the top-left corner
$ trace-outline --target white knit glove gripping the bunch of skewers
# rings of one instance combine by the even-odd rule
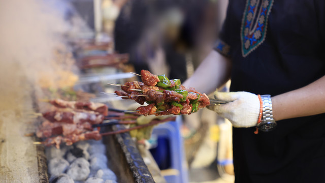
[[[227,104],[210,108],[231,121],[234,127],[254,127],[257,125],[260,103],[257,95],[248,92],[215,92],[214,98]]]

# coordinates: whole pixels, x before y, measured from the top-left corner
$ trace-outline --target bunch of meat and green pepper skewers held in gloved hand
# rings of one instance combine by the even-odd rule
[[[136,110],[143,115],[191,114],[210,105],[210,100],[205,94],[199,93],[193,87],[182,86],[179,79],[169,80],[165,75],[156,76],[145,70],[141,71],[141,78],[143,82],[125,82],[120,85],[122,91],[115,93],[118,96],[127,96],[141,105],[146,102],[149,106],[155,106],[143,106]]]

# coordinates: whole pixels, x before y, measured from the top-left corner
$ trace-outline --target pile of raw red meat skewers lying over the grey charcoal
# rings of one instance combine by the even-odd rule
[[[124,110],[110,109],[109,111],[106,111],[107,114],[110,114],[106,116],[106,119],[131,120],[111,120],[109,122],[106,121],[107,123],[103,124],[105,116],[102,113],[104,113],[104,111],[102,110],[100,111],[102,113],[100,113],[92,110],[96,110],[99,106],[103,106],[104,104],[98,103],[95,107],[91,108],[90,106],[94,106],[93,104],[84,102],[79,102],[79,106],[83,107],[78,107],[78,102],[74,101],[52,100],[47,102],[50,102],[58,108],[57,110],[35,114],[43,115],[43,117],[47,119],[39,126],[36,135],[39,138],[46,138],[46,140],[41,144],[47,146],[55,145],[57,148],[60,143],[71,145],[80,140],[99,140],[102,136],[99,131],[93,131],[94,128],[112,125],[136,124],[137,120],[135,119],[140,115],[138,113],[133,113],[134,115],[124,116]],[[40,143],[36,142],[35,144]]]

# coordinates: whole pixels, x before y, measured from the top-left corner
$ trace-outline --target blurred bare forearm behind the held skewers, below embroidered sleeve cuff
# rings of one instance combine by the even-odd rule
[[[230,72],[231,60],[213,50],[183,85],[210,94],[230,79]]]

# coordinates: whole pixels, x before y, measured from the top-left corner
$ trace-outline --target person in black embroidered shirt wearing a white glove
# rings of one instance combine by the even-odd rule
[[[324,42],[325,1],[229,1],[184,85],[211,93],[231,79],[230,93],[215,92],[229,103],[212,108],[234,126],[235,182],[325,182]],[[276,128],[257,133],[266,120]]]

